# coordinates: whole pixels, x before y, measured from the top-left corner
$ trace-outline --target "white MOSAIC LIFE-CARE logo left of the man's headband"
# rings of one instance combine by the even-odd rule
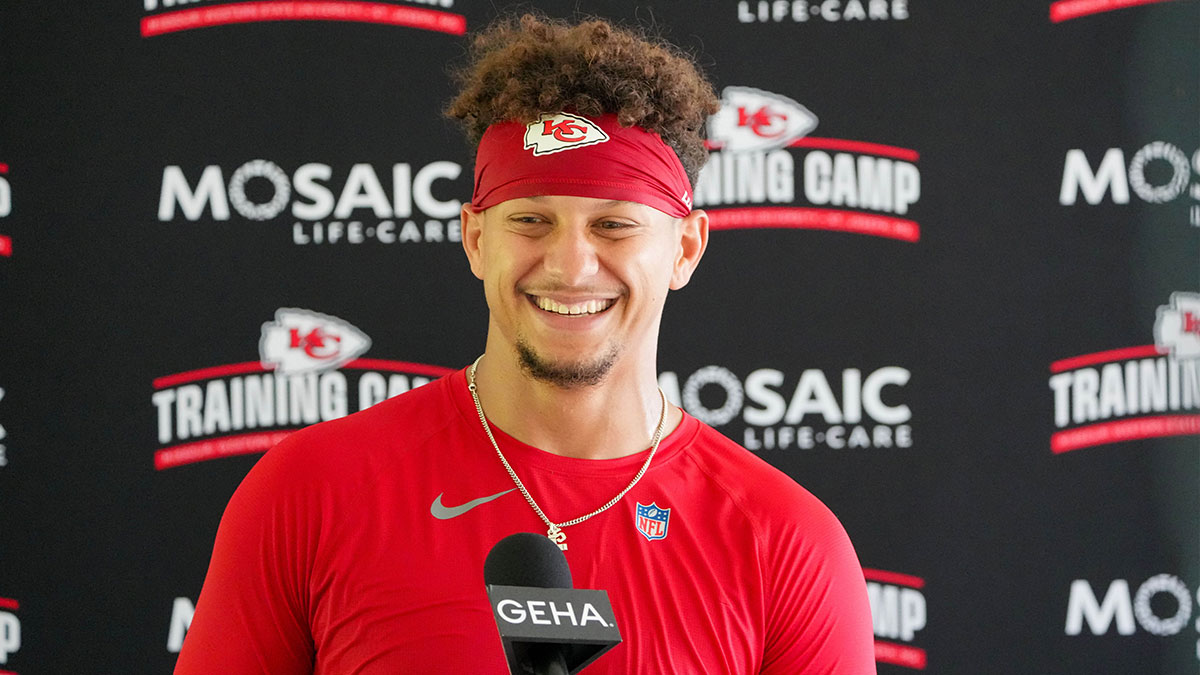
[[[158,220],[169,222],[181,215],[198,221],[209,211],[214,221],[224,221],[232,205],[251,221],[270,221],[289,211],[295,219],[292,243],[299,245],[462,240],[462,202],[434,195],[454,192],[440,184],[462,175],[456,162],[430,162],[415,171],[408,163],[392,165],[390,197],[370,163],[335,171],[330,165],[310,162],[288,177],[275,162],[251,160],[234,169],[228,184],[220,166],[206,166],[193,187],[181,166],[164,167]]]

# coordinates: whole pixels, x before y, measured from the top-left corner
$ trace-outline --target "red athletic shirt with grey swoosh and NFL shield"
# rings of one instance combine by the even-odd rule
[[[563,458],[493,431],[556,521],[611,500],[646,460]],[[664,537],[638,530],[638,503],[670,509]],[[464,371],[298,431],[229,501],[175,673],[505,674],[484,558],[545,530]],[[875,673],[841,525],[690,416],[619,503],[565,532],[575,586],[608,592],[624,638],[588,675]]]

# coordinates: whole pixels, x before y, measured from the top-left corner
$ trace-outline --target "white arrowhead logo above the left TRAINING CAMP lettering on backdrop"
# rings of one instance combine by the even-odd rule
[[[263,324],[258,356],[263,366],[294,375],[346,365],[370,347],[365,333],[337,317],[283,307]]]

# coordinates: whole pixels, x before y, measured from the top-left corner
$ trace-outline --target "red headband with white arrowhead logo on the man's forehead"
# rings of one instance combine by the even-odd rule
[[[475,155],[472,208],[538,195],[620,199],[667,215],[691,213],[691,183],[658,133],[623,127],[617,115],[546,113],[538,121],[493,124]]]

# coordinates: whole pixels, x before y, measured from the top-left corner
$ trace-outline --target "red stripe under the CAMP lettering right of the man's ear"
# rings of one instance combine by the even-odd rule
[[[810,207],[713,209],[708,211],[708,226],[712,229],[828,229],[910,243],[920,240],[920,226],[911,220]]]

